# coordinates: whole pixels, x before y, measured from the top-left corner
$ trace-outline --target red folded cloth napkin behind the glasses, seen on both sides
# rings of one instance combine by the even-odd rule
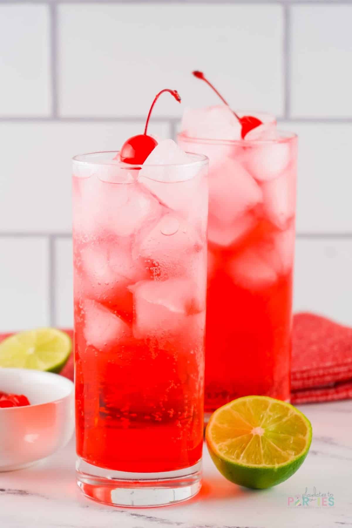
[[[72,330],[65,329],[70,337]],[[0,342],[11,334],[0,334]],[[73,354],[61,374],[73,380]],[[293,316],[291,402],[352,398],[352,328],[326,317]]]

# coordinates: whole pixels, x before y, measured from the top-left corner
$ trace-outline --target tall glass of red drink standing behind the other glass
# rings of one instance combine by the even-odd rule
[[[261,394],[290,399],[297,136],[187,137],[210,158],[205,411]]]

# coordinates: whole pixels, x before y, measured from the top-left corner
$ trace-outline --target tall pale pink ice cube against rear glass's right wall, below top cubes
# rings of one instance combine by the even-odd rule
[[[287,169],[281,176],[264,182],[263,208],[268,219],[279,229],[285,229],[296,209],[296,171]]]

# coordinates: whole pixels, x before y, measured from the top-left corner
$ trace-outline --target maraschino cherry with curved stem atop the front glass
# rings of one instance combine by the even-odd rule
[[[161,90],[161,92],[157,93],[153,103],[151,103],[144,134],[130,137],[125,143],[123,143],[120,150],[121,162],[130,163],[132,165],[141,165],[146,161],[151,151],[157,146],[157,141],[153,137],[147,135],[147,130],[151,111],[153,110],[153,107],[161,93],[164,92],[171,93],[171,95],[175,97],[176,101],[181,102],[181,98],[178,95],[177,90],[169,90],[166,88],[165,90]]]

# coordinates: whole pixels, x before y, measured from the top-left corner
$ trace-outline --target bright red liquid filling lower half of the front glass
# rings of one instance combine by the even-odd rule
[[[182,286],[178,279],[169,280],[170,288]],[[169,308],[166,297],[165,305],[155,306],[149,294],[154,296],[158,285],[152,286],[149,291],[147,282],[139,287],[145,289],[141,295],[146,297],[140,301],[149,304],[145,309],[157,311],[148,317],[150,328],[159,326],[153,319],[163,313],[165,318],[177,318],[176,308],[184,319],[165,338],[152,331],[145,337],[111,338],[105,344],[110,329],[103,319],[111,318],[112,336],[121,297],[112,295],[109,307],[94,306],[88,300],[85,306],[79,299],[75,302],[77,454],[101,468],[168,472],[191,467],[202,457],[203,391],[198,376],[202,376],[204,311],[193,313],[181,304]],[[124,314],[126,331],[132,325],[132,303],[131,293],[126,299],[129,311]],[[90,310],[94,310],[94,322]],[[92,340],[87,341],[85,326],[99,324],[99,317],[101,343],[94,342],[94,346]]]

